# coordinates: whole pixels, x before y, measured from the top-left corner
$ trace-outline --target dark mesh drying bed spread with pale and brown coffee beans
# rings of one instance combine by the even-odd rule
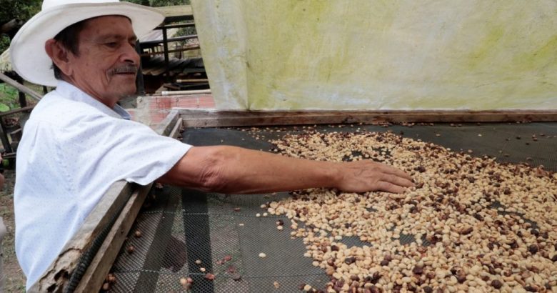
[[[365,143],[358,140],[361,137],[371,139],[367,149]],[[544,194],[528,199],[546,201],[543,207],[549,209],[548,215],[541,217],[536,209],[528,213],[525,207],[511,207],[513,201],[498,200],[503,195],[511,198],[520,194],[514,190],[506,194],[504,180],[485,188],[487,191],[492,187],[501,188],[499,194],[491,194],[493,198],[487,200],[485,194],[474,197],[470,192],[463,194],[463,191],[468,190],[468,185],[481,185],[482,169],[491,168],[493,164],[511,173],[516,166],[520,166],[522,177],[531,178],[534,183],[540,180],[545,185],[555,184],[552,172],[557,169],[556,123],[207,128],[186,129],[183,139],[196,146],[236,145],[312,159],[324,158],[319,157],[325,155],[318,151],[319,145],[333,146],[343,139],[356,139],[359,141],[357,144],[349,145],[348,149],[338,146],[342,151],[329,153],[327,158],[336,161],[375,159],[394,162],[413,174],[418,187],[402,197],[382,192],[342,194],[325,189],[256,195],[206,194],[174,187],[157,189],[151,195],[156,200],[147,201],[114,262],[111,274],[116,281],[110,284],[111,292],[181,292],[186,289],[191,292],[298,292],[300,289],[389,292],[430,288],[456,291],[463,286],[551,292],[551,286],[555,286],[557,268],[552,258],[556,253],[557,232],[553,214],[557,195],[543,189]],[[293,140],[285,144],[288,139]],[[293,141],[303,141],[301,146],[306,148],[305,152],[296,151]],[[389,149],[389,145],[393,147]],[[401,151],[397,151],[396,146],[408,146],[405,149],[407,165],[393,161],[393,157]],[[416,158],[412,159],[413,154],[420,152],[418,161],[424,166],[414,164]],[[456,174],[461,176],[461,170],[455,167],[443,169],[433,164],[440,156],[452,156],[464,164],[474,162],[478,166],[477,173],[468,172],[466,177],[451,179]],[[518,163],[527,163],[531,167]],[[457,167],[466,169],[463,165]],[[486,173],[486,178],[494,173]],[[446,182],[466,180],[468,183],[466,187],[459,186],[461,190],[458,191],[453,185],[445,185],[450,183],[436,180],[436,174]],[[517,176],[521,177],[520,174]],[[503,179],[506,179],[504,174]],[[430,186],[426,192],[419,192],[419,189]],[[440,192],[441,189],[444,192]],[[439,199],[440,196],[443,197]],[[293,198],[298,202],[292,203]],[[333,200],[350,203],[349,208],[359,213],[358,217],[338,222],[331,216],[326,221],[328,227],[316,227],[311,213],[342,213],[333,208]],[[437,200],[439,202],[434,204]],[[312,202],[331,209],[312,211]],[[428,202],[433,204],[427,205]],[[474,212],[470,212],[471,209]],[[356,212],[358,210],[360,212]],[[441,215],[444,211],[448,211],[444,221],[453,223],[454,227],[437,227],[430,233],[423,230],[426,232],[418,235],[421,237],[416,237],[414,233],[420,227],[408,226],[407,222],[398,219],[400,217],[393,217],[393,213],[417,217],[416,214],[428,212]],[[368,227],[367,234],[362,234],[361,227],[352,229],[358,227],[356,222],[365,222],[361,221],[365,217],[382,219],[383,222],[377,222],[378,227]],[[418,218],[414,222],[422,223],[423,219],[421,222]],[[480,218],[489,220],[480,224]],[[503,220],[506,222],[502,223]],[[394,225],[396,222],[400,227]],[[346,227],[347,223],[349,227]],[[501,264],[497,259],[490,264],[470,261],[470,265],[455,259],[448,260],[450,257],[438,261],[443,258],[440,257],[443,253],[436,247],[443,247],[443,252],[446,248],[449,251],[458,250],[454,242],[461,242],[458,245],[466,247],[468,239],[482,230],[482,225],[494,223],[506,230],[510,243],[501,243],[501,239],[496,237],[484,244],[488,246],[488,251],[500,253],[500,259],[508,258],[509,262],[514,260],[512,254],[511,257],[507,255],[506,248],[518,249],[521,260],[516,260],[516,267],[510,263]],[[508,224],[516,224],[517,227],[507,227]],[[496,231],[501,227],[496,227]],[[139,237],[136,235],[138,231]],[[517,243],[513,243],[511,235],[516,236],[519,231],[521,236]],[[443,233],[447,235],[446,239],[443,239]],[[536,245],[536,252],[531,248],[533,244]],[[523,252],[524,247],[526,252]],[[432,249],[435,250],[432,252]],[[492,262],[492,257],[496,256],[489,255],[490,252],[480,253],[479,250],[470,250],[465,257],[475,253],[473,259],[485,258]],[[459,250],[458,253],[463,252]],[[429,254],[436,257],[428,259]],[[521,263],[523,261],[528,261],[528,264]],[[357,270],[354,270],[355,266]],[[429,272],[436,275],[427,276]],[[520,277],[515,277],[517,274]],[[540,276],[546,278],[540,279]],[[421,282],[420,279],[424,280]],[[500,287],[497,282],[501,282]]]

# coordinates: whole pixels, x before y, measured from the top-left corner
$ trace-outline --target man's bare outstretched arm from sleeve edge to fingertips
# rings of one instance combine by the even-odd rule
[[[321,162],[236,146],[194,146],[159,182],[227,194],[313,187],[401,193],[413,186],[405,172],[371,160]]]

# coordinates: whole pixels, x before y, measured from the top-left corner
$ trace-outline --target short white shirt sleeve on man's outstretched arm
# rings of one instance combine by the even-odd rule
[[[146,185],[166,174],[191,148],[189,144],[161,136],[144,124],[109,116],[88,116],[64,129],[61,147],[69,172],[81,180],[124,179]],[[78,186],[84,182],[76,182]]]

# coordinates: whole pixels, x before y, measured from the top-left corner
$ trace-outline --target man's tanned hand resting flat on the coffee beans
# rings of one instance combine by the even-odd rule
[[[402,193],[406,187],[413,186],[406,172],[371,160],[338,163],[338,168],[341,177],[336,188],[343,192]]]

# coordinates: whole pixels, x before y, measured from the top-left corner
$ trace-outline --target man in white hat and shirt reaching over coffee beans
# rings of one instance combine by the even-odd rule
[[[28,288],[117,180],[234,194],[310,187],[403,192],[412,185],[406,173],[371,161],[189,146],[127,120],[116,102],[136,91],[136,35],[163,17],[115,0],[55,2],[44,1],[11,44],[12,64],[24,79],[57,86],[34,109],[18,149],[16,254]]]

